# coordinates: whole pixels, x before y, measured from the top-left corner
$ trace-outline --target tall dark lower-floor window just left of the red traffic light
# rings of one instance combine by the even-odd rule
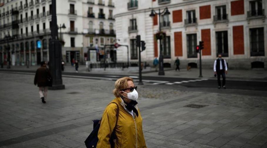
[[[187,35],[187,58],[196,58],[197,34]]]

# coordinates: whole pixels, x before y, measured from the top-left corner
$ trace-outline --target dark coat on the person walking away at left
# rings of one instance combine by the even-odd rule
[[[34,85],[37,84],[38,87],[47,86],[47,76],[51,76],[51,73],[46,67],[40,67],[36,70],[35,77],[34,77]],[[51,76],[52,77],[52,76]]]

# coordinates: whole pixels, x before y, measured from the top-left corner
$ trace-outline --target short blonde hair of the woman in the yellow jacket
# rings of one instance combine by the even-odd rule
[[[114,96],[120,97],[120,90],[126,89],[128,87],[128,81],[133,82],[133,79],[127,76],[117,79],[117,81],[115,82],[115,89],[113,90]]]

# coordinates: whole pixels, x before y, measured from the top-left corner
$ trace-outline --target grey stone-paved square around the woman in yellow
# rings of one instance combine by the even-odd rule
[[[41,103],[33,75],[0,73],[0,148],[85,148],[114,81],[63,78]],[[267,97],[138,86],[148,148],[267,148]],[[203,108],[185,107],[188,104]]]

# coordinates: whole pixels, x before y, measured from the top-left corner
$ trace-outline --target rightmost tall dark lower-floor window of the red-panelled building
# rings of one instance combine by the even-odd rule
[[[264,56],[264,28],[249,29],[250,55]]]

